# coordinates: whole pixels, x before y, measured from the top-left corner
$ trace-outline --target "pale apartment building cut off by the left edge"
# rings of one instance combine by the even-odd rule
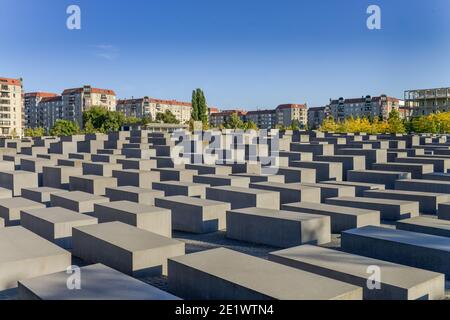
[[[0,78],[0,136],[22,135],[22,79]]]

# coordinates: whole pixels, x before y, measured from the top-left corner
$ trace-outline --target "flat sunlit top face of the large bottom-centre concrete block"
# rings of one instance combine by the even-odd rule
[[[170,260],[274,299],[328,300],[360,290],[353,285],[225,248]]]

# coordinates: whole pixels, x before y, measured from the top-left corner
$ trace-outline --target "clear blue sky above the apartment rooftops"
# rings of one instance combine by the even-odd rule
[[[81,30],[66,28],[67,6]],[[382,29],[366,9],[382,10]],[[26,91],[273,108],[450,86],[449,0],[0,0],[0,76]],[[20,39],[20,41],[18,40]]]

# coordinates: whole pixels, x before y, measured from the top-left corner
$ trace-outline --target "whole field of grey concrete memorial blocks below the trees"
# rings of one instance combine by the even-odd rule
[[[447,139],[1,139],[0,299],[449,299]]]

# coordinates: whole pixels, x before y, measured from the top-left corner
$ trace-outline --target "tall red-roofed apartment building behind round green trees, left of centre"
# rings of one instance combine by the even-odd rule
[[[116,110],[116,94],[113,90],[92,88],[86,85],[81,88],[66,89],[62,93],[62,111],[60,119],[83,124],[83,112],[92,106],[101,106],[110,111]]]

